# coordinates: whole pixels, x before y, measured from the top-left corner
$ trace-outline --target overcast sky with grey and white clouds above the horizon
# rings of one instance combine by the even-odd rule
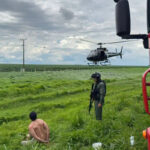
[[[132,33],[146,33],[146,0],[129,0]],[[97,45],[118,41],[113,0],[0,0],[0,63],[22,63],[22,41],[28,64],[87,64]],[[120,51],[122,44],[107,46]],[[148,65],[142,41],[123,43],[123,59],[112,65]]]

